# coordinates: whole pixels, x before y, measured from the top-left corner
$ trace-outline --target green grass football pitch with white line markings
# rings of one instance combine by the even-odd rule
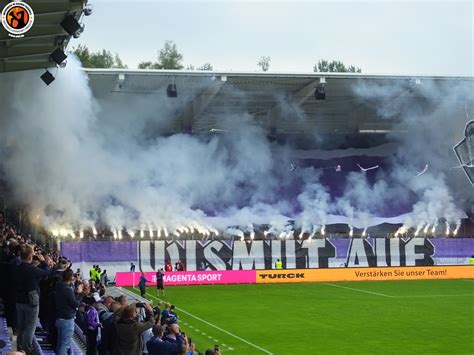
[[[181,286],[165,297],[150,286],[147,297],[176,305],[201,352],[474,353],[474,279]]]

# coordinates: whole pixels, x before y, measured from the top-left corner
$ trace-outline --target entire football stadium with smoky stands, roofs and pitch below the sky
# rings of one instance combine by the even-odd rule
[[[93,7],[26,3],[1,354],[474,352],[472,75],[90,68]]]

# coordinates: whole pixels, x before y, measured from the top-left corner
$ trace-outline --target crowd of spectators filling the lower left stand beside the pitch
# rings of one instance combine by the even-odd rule
[[[35,354],[37,327],[55,353],[71,353],[74,333],[85,338],[87,355],[198,354],[181,332],[175,307],[129,304],[107,292],[106,270],[94,265],[84,278],[57,250],[35,244],[0,214],[0,292],[18,351]],[[78,330],[79,329],[79,330]],[[208,350],[206,354],[219,354]]]

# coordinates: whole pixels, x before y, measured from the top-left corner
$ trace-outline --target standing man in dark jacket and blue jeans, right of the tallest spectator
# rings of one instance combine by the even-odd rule
[[[62,274],[62,282],[56,285],[56,329],[58,333],[58,342],[56,345],[57,355],[67,355],[71,347],[71,339],[74,333],[74,317],[79,307],[83,285],[79,284],[76,292],[73,291],[74,273],[67,269]]]

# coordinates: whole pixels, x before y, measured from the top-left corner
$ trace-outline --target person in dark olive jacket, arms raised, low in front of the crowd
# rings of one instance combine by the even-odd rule
[[[116,339],[114,355],[141,354],[143,350],[143,332],[153,327],[153,309],[147,303],[143,304],[146,312],[145,320],[139,322],[135,304],[124,308],[122,317],[115,325]]]

